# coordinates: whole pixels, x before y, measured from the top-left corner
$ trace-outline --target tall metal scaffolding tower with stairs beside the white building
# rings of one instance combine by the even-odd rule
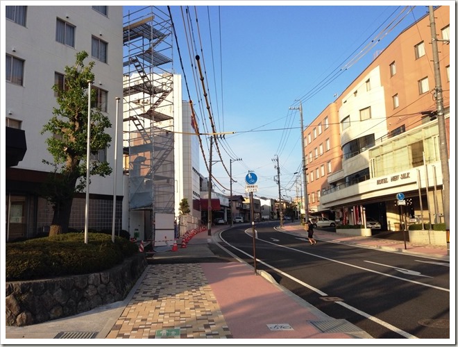
[[[173,63],[169,14],[133,7],[124,16],[124,167],[129,210],[174,213]],[[128,168],[128,169],[127,169]]]

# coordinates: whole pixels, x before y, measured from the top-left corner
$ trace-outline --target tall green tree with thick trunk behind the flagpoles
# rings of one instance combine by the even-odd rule
[[[53,162],[42,160],[53,170],[42,186],[41,195],[53,206],[54,228],[51,230],[57,232],[67,231],[74,195],[86,187],[88,81],[94,81],[92,68],[95,65],[94,61],[84,64],[87,56],[85,51],[76,53],[75,65],[65,67],[63,87],[53,85],[58,108],[53,108],[53,117],[41,132],[42,135],[51,133],[46,144],[53,156]],[[91,88],[91,103],[96,104],[96,100],[96,90]],[[92,108],[90,119],[90,149],[95,155],[110,146],[111,136],[105,133],[105,128],[110,128],[111,123],[99,108]],[[90,176],[105,177],[111,172],[108,162],[90,161]]]

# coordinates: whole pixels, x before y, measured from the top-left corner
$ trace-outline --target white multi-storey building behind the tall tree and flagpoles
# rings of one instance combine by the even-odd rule
[[[119,141],[117,157],[122,158],[121,128],[115,136],[116,97],[122,98],[122,7],[121,6],[7,6],[2,3],[6,15],[2,31],[5,35],[2,59],[6,59],[6,74],[2,75],[3,116],[2,127],[8,132],[22,134],[26,142],[23,158],[20,155],[24,143],[14,143],[17,135],[6,138],[6,152],[13,158],[6,168],[7,239],[31,237],[51,224],[53,211],[37,194],[46,173],[52,167],[42,160],[52,157],[41,135],[44,124],[51,118],[57,106],[51,89],[60,81],[65,66],[74,65],[76,53],[87,51],[85,64],[94,61],[93,87],[99,95],[99,106],[110,118],[112,127],[106,131],[112,143],[104,153],[113,172],[121,172],[121,160],[114,165],[114,140]],[[17,150],[19,149],[19,155]],[[9,167],[12,164],[11,167]],[[91,177],[89,227],[111,229],[114,186],[117,189],[117,230],[121,228],[122,175],[101,178]],[[85,224],[85,196],[74,198],[70,228],[83,228]]]

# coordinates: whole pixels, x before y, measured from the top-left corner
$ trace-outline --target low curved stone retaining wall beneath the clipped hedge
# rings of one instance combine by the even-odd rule
[[[101,273],[6,282],[6,325],[52,321],[124,300],[146,266],[141,253]]]

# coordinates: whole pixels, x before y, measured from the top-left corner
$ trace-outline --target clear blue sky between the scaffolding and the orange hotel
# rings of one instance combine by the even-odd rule
[[[345,6],[337,6],[342,3]],[[278,198],[278,185],[273,180],[277,175],[276,162],[272,161],[278,155],[282,198],[287,200],[296,196],[294,173],[300,171],[302,160],[300,113],[289,108],[297,107],[298,100],[302,101],[307,128],[368,66],[377,51],[427,14],[427,6],[455,6],[452,1],[263,1],[262,5],[258,1],[169,1],[164,4],[171,6],[183,58],[182,70],[178,53],[174,53],[174,69],[187,77],[201,131],[204,122],[210,129],[210,120],[205,99],[198,97],[203,92],[196,92],[201,81],[195,81],[192,74],[195,61],[189,59],[183,29],[182,10],[186,13],[186,9],[196,44],[191,56],[197,53],[201,64],[205,64],[206,92],[217,132],[230,133],[219,141],[221,158],[213,150],[216,162],[212,174],[221,183],[214,189],[230,193],[229,176],[219,160],[229,170],[230,158],[241,158],[232,162],[232,178],[237,180],[232,193],[245,194],[245,176],[251,170],[258,178],[259,192],[255,195]],[[183,98],[188,99],[186,91]],[[203,135],[204,143],[208,137]],[[208,160],[207,149],[205,144]],[[200,171],[208,176],[202,159]]]

